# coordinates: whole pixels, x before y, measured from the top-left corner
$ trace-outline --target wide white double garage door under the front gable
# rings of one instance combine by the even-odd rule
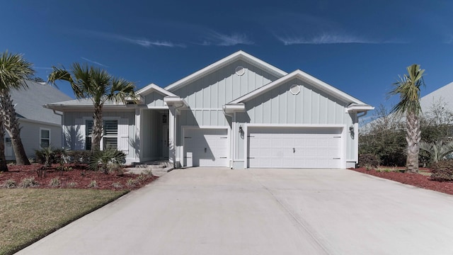
[[[248,128],[248,166],[340,168],[341,128]]]

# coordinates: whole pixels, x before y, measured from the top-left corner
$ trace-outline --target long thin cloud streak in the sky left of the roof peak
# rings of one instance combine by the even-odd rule
[[[147,38],[132,38],[125,35],[117,35],[113,33],[105,33],[105,32],[98,32],[98,31],[84,31],[91,36],[95,36],[98,38],[103,38],[105,40],[116,40],[121,42],[129,42],[134,45],[140,45],[142,47],[185,47],[183,44],[178,44],[174,42],[164,41],[164,40],[149,40]]]

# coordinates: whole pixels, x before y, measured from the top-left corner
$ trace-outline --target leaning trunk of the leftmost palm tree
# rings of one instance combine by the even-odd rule
[[[4,117],[4,127],[11,137],[11,144],[13,145],[14,155],[16,156],[16,164],[29,165],[30,161],[28,161],[27,154],[25,154],[25,149],[22,145],[21,128],[16,116],[16,110],[14,109],[13,100],[7,91],[1,92],[0,103],[2,115]]]

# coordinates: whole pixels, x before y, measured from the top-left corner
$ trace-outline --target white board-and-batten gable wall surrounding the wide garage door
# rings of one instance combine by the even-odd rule
[[[293,84],[300,87],[299,94],[292,94],[289,89]],[[347,103],[338,101],[304,81],[294,79],[281,84],[260,96],[246,102],[246,113],[236,113],[234,123],[234,168],[245,166],[246,135],[239,134],[239,126],[246,132],[248,123],[252,125],[289,125],[294,127],[306,126],[342,126],[345,137],[343,150],[346,162],[357,162],[357,137],[350,135],[349,127],[356,126],[355,113],[345,113]],[[355,129],[357,130],[357,129]]]

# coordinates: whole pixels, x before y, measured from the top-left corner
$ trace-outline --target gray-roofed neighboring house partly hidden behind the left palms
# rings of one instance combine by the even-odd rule
[[[21,140],[28,157],[35,157],[35,149],[42,147],[61,148],[62,145],[62,115],[44,108],[46,103],[71,99],[55,86],[35,81],[25,81],[28,89],[12,90],[16,115],[21,125]],[[11,138],[6,132],[6,160],[16,159],[11,146]]]

